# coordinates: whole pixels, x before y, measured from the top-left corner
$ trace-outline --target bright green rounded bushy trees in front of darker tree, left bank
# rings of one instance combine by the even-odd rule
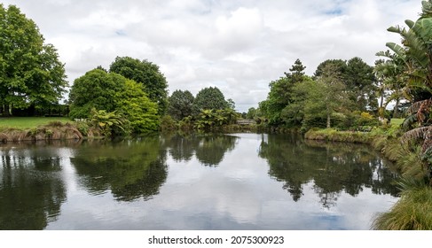
[[[130,121],[132,132],[144,133],[158,128],[157,105],[150,101],[143,86],[120,74],[94,69],[75,80],[70,91],[70,116],[90,117],[91,109],[118,112]]]

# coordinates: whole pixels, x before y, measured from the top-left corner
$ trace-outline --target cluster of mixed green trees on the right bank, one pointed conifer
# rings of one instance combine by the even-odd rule
[[[328,59],[313,77],[305,75],[304,68],[297,59],[289,73],[271,81],[269,95],[257,110],[269,126],[350,128],[358,122],[350,112],[377,112],[373,67],[361,58]]]

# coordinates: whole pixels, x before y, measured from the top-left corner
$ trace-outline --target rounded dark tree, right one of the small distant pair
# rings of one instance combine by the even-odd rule
[[[198,92],[192,105],[192,114],[198,115],[201,110],[218,110],[229,108],[229,103],[225,100],[224,94],[217,87],[208,87]]]

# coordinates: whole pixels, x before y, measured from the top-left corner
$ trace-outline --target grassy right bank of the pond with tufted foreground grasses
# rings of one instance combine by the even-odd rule
[[[432,229],[432,188],[430,166],[421,157],[419,145],[401,143],[401,130],[396,126],[373,128],[370,132],[311,129],[305,139],[329,142],[368,143],[393,161],[401,178],[397,183],[401,198],[387,213],[379,213],[372,229]]]

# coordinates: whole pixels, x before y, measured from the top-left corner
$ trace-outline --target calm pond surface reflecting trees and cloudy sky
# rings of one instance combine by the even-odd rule
[[[370,229],[397,174],[294,135],[4,144],[0,229]]]

